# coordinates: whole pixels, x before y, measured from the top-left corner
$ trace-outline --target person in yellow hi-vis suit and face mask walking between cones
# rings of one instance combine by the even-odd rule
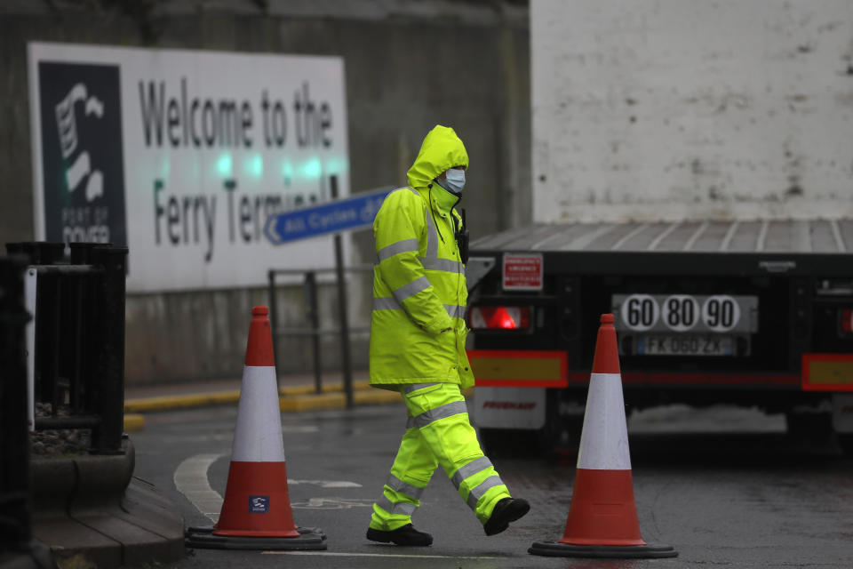
[[[456,132],[435,126],[409,170],[409,186],[389,194],[373,222],[371,385],[400,391],[408,422],[373,505],[371,541],[433,542],[411,525],[411,515],[439,464],[486,535],[503,532],[530,509],[510,497],[483,455],[460,393],[474,385],[465,351],[467,232],[454,209],[467,166]]]

